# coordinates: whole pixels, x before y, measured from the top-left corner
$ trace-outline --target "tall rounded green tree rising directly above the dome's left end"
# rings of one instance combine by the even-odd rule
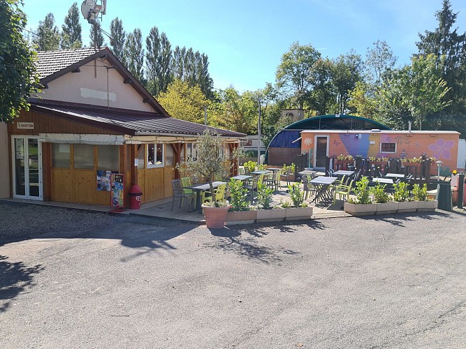
[[[310,97],[313,85],[310,73],[321,54],[312,45],[299,45],[295,42],[282,59],[275,74],[277,87],[285,96],[296,101],[296,106],[303,109]]]

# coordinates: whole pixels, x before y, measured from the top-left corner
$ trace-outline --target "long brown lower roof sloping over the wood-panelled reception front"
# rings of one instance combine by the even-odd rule
[[[222,130],[154,112],[140,112],[57,101],[31,101],[31,110],[126,135],[198,135],[206,128],[224,137],[244,138],[244,133]]]

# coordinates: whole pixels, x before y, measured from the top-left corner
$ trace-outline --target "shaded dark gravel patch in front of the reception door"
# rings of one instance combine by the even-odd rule
[[[0,238],[41,235],[49,232],[103,228],[126,218],[105,212],[89,212],[17,202],[0,202]]]

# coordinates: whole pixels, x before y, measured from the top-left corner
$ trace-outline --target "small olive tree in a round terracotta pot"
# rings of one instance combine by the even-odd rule
[[[196,161],[190,159],[184,165],[178,166],[194,177],[204,178],[209,182],[212,200],[202,205],[207,228],[222,228],[225,225],[226,212],[230,209],[228,201],[217,200],[214,195],[214,178],[226,177],[231,168],[231,158],[221,151],[221,146],[220,135],[207,129],[198,138]],[[233,156],[235,154],[232,154]]]

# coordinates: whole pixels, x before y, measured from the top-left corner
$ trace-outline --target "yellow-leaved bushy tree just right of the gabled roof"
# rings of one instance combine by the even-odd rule
[[[168,84],[166,92],[157,97],[161,106],[176,119],[204,124],[204,107],[209,105],[198,86],[189,87],[189,84],[180,79]]]

